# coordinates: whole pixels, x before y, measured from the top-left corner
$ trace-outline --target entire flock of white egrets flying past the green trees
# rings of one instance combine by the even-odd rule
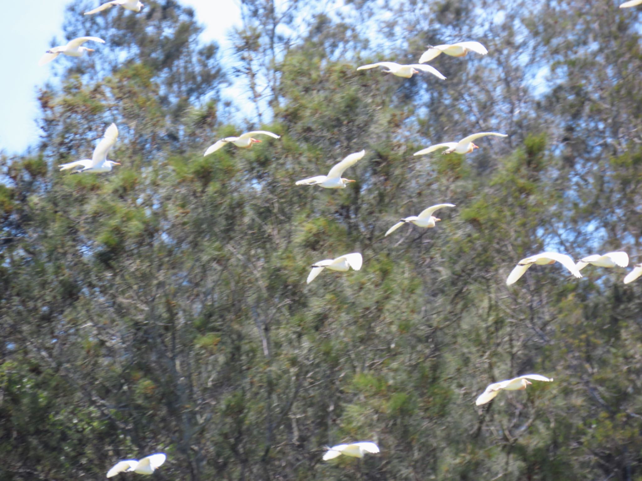
[[[620,8],[629,8],[632,6],[637,6],[642,4],[642,0],[630,0],[620,5]],[[113,0],[107,3],[103,3],[98,8],[85,12],[85,15],[92,15],[94,13],[103,12],[112,6],[121,6],[126,10],[131,10],[132,12],[140,12],[144,4],[141,1],[137,0]],[[61,53],[68,56],[80,57],[85,55],[85,53],[91,53],[94,49],[83,47],[82,45],[85,42],[98,42],[101,44],[105,43],[105,40],[102,40],[98,37],[78,37],[70,40],[64,46],[52,47],[40,58],[39,65],[44,65],[45,63],[51,62]],[[455,57],[462,57],[467,55],[467,53],[473,52],[479,55],[486,55],[488,50],[480,42],[458,42],[455,44],[444,44],[438,46],[430,46],[421,57],[419,58],[419,63],[413,63],[410,65],[401,65],[395,62],[377,62],[370,63],[369,65],[361,65],[357,70],[367,70],[374,69],[376,67],[383,67],[387,70],[383,71],[386,73],[391,73],[395,76],[403,78],[412,78],[413,74],[418,74],[420,71],[429,72],[440,78],[441,80],[446,80],[446,77],[443,76],[435,67],[431,65],[425,65],[424,62],[433,60],[438,55],[442,53]],[[225,137],[225,139],[220,139],[216,141],[213,145],[209,146],[205,150],[204,156],[210,155],[216,152],[218,149],[222,148],[226,144],[234,144],[234,146],[239,148],[250,148],[253,144],[261,142],[259,139],[255,139],[255,135],[267,135],[273,139],[279,139],[281,136],[275,133],[266,131],[266,130],[253,130],[239,135],[238,137]],[[506,134],[497,133],[497,132],[479,132],[473,133],[464,137],[464,139],[459,140],[458,142],[442,142],[441,144],[434,144],[425,149],[422,149],[418,152],[415,152],[414,155],[425,155],[435,151],[442,150],[442,154],[449,153],[458,153],[458,154],[467,154],[478,149],[479,147],[473,144],[473,140],[480,139],[480,137],[495,136],[495,137],[508,137]],[[107,159],[107,154],[109,150],[116,143],[118,137],[118,128],[116,124],[111,124],[108,126],[105,131],[103,139],[98,142],[98,146],[94,149],[92,158],[85,158],[82,160],[76,160],[75,162],[69,162],[68,164],[59,165],[61,171],[71,170],[73,174],[76,173],[106,173],[112,170],[114,165],[121,165],[119,162],[114,162]],[[365,155],[365,150],[360,152],[352,153],[345,157],[341,162],[335,164],[327,175],[318,175],[303,180],[297,181],[296,185],[319,185],[325,189],[345,189],[348,183],[354,182],[354,180],[342,178],[343,173],[349,167],[356,164],[358,160],[361,160]],[[394,224],[388,231],[385,233],[387,235],[393,233],[395,230],[403,226],[406,223],[415,224],[415,226],[422,228],[431,228],[435,227],[436,223],[441,219],[435,217],[435,212],[444,207],[455,207],[453,204],[437,204],[431,207],[424,209],[419,215],[411,215],[410,217],[405,217],[401,219],[398,223]],[[580,278],[582,273],[580,271],[589,264],[598,267],[627,267],[629,266],[629,256],[625,252],[609,252],[604,255],[594,254],[589,255],[580,259],[577,263],[573,261],[573,258],[566,254],[560,254],[557,252],[542,252],[541,254],[532,255],[530,257],[523,258],[517,262],[517,266],[511,271],[506,280],[507,285],[511,285],[521,276],[523,276],[528,268],[533,264],[543,266],[546,264],[554,264],[559,262],[562,266],[566,267],[573,276]],[[350,254],[345,254],[334,259],[324,259],[319,260],[313,264],[312,270],[308,275],[307,283],[312,282],[318,274],[321,273],[324,269],[330,269],[332,271],[338,272],[347,272],[350,268],[358,271],[361,269],[363,264],[363,258],[358,252],[353,252]],[[630,271],[624,278],[624,283],[629,283],[637,278],[642,276],[642,263],[634,266],[634,269]],[[495,382],[490,384],[482,394],[476,399],[476,405],[483,405],[490,402],[499,394],[499,391],[521,391],[526,389],[530,384],[530,380],[551,382],[553,378],[548,378],[539,374],[526,374],[523,376],[518,376],[513,379],[507,379],[500,382]],[[326,451],[323,459],[329,460],[334,459],[340,455],[346,455],[349,457],[362,458],[365,453],[379,453],[379,446],[370,441],[360,441],[358,443],[350,444],[337,444],[336,446],[326,447]],[[107,472],[107,477],[116,476],[119,473],[131,472],[139,473],[143,475],[151,475],[153,471],[159,466],[161,466],[166,460],[166,455],[164,453],[155,453],[144,457],[141,460],[128,459],[117,462],[109,471]]]

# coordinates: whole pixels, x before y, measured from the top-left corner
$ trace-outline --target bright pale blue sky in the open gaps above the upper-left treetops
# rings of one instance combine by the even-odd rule
[[[96,6],[108,0],[96,0]],[[62,21],[70,0],[28,0],[3,3],[0,15],[0,152],[22,153],[38,140],[37,87],[43,85],[51,65],[39,67],[38,60],[56,37],[64,44]],[[182,0],[194,8],[198,22],[205,26],[203,40],[216,40],[229,51],[227,33],[239,24],[236,0]],[[26,8],[29,5],[30,8]],[[108,15],[108,13],[101,13]],[[132,13],[133,15],[133,13]],[[21,48],[6,48],[19,45]],[[54,61],[55,62],[55,61]],[[52,62],[53,63],[53,62]]]

